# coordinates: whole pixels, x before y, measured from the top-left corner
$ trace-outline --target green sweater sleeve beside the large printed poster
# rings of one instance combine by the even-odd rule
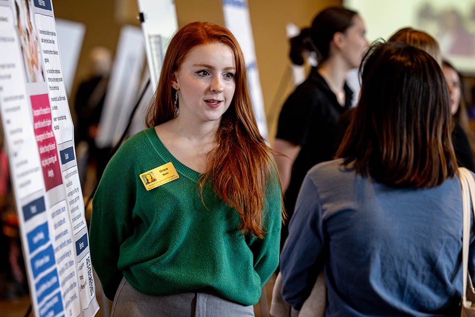
[[[126,144],[124,146],[104,170],[94,195],[91,215],[91,261],[104,294],[110,300],[114,299],[123,276],[118,267],[120,247],[133,234],[130,219],[135,205],[137,175],[129,161],[134,156],[127,153]]]

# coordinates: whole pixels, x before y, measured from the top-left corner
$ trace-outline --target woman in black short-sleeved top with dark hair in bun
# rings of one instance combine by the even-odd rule
[[[361,62],[368,47],[365,33],[358,13],[329,7],[290,41],[290,58],[295,64],[303,64],[303,53],[314,52],[319,66],[288,97],[279,116],[274,149],[285,155],[275,159],[289,219],[307,171],[332,159],[336,151],[338,120],[353,95],[345,83],[346,73]],[[287,227],[283,226],[281,248],[286,237]]]

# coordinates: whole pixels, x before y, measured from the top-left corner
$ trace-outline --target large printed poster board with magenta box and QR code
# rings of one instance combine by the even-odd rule
[[[37,317],[91,317],[84,201],[51,0],[0,0],[0,116]]]

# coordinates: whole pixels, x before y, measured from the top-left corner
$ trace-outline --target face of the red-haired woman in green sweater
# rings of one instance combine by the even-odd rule
[[[236,89],[233,51],[219,42],[195,46],[175,72],[179,116],[191,122],[217,122],[229,108]]]

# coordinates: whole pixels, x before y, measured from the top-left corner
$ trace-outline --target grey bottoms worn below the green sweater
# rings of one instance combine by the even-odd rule
[[[230,302],[217,294],[146,295],[122,277],[112,305],[112,317],[254,317],[254,307]]]

